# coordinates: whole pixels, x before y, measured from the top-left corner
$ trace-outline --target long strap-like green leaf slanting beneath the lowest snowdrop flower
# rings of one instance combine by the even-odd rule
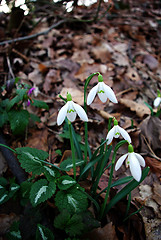
[[[128,183],[120,192],[118,192],[114,198],[108,203],[105,212],[107,213],[111,207],[113,207],[118,201],[120,201],[122,198],[127,196],[134,188],[136,188],[148,175],[149,167],[146,167],[143,169],[142,177],[140,182],[137,182],[136,180],[132,180],[130,183]]]

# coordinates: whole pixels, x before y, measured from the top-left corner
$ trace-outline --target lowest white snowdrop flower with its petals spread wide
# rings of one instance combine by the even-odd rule
[[[129,144],[128,153],[124,154],[122,157],[120,157],[117,160],[117,163],[115,165],[116,171],[122,166],[125,159],[126,159],[126,166],[127,167],[130,166],[131,175],[136,181],[139,182],[142,175],[140,166],[145,167],[144,158],[140,154],[135,153],[133,150],[133,146]]]

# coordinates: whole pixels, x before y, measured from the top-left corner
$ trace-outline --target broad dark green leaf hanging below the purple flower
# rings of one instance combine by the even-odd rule
[[[29,123],[30,114],[26,110],[11,110],[8,113],[8,117],[13,134],[19,135],[25,131]]]

